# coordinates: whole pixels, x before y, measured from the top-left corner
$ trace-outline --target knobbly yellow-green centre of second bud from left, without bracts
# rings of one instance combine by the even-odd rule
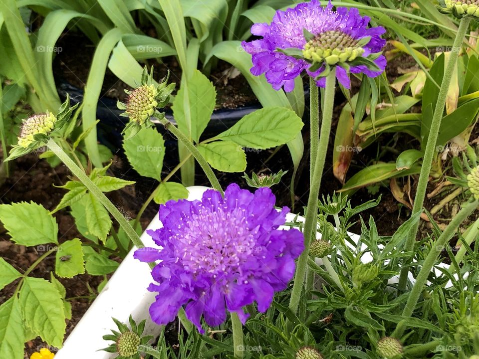
[[[125,110],[130,121],[142,125],[153,116],[158,106],[157,96],[154,85],[142,85],[130,92]]]

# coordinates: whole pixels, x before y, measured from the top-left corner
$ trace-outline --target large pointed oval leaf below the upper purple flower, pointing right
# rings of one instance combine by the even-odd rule
[[[265,107],[247,114],[216,139],[265,150],[293,140],[302,127],[303,122],[294,111],[284,107]]]

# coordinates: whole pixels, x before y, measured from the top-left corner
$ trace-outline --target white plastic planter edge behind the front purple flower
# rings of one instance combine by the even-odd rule
[[[208,187],[191,186],[188,187],[189,200],[201,199],[203,192]],[[287,221],[292,221],[296,217],[293,213],[287,214]],[[304,221],[304,217],[297,217],[297,220]],[[158,216],[155,216],[148,225],[147,229],[158,229],[161,227]],[[359,235],[348,233],[355,242],[359,240]],[[145,232],[141,235],[141,240],[146,246],[155,246],[152,238]],[[363,246],[365,246],[363,244]],[[353,246],[351,245],[353,248]],[[142,263],[133,258],[133,248],[120,264],[116,272],[108,281],[105,288],[101,291],[85,315],[75,326],[63,348],[55,355],[55,359],[72,359],[79,356],[88,359],[112,359],[116,354],[99,352],[101,348],[107,347],[111,342],[102,339],[105,334],[110,334],[110,329],[115,329],[115,324],[111,318],[116,318],[122,323],[128,322],[130,314],[135,321],[147,320],[145,333],[153,336],[160,334],[161,327],[150,320],[148,309],[155,300],[156,293],[147,291],[151,283],[151,270],[148,264]],[[361,258],[363,263],[372,261],[371,254],[365,253]],[[316,259],[321,264],[320,259]],[[440,264],[443,268],[449,268],[447,264]],[[441,272],[435,268],[439,275]],[[414,281],[413,278],[410,277]],[[397,283],[397,278],[393,277],[390,283]],[[448,283],[448,286],[450,284]],[[81,354],[80,354],[81,353]]]

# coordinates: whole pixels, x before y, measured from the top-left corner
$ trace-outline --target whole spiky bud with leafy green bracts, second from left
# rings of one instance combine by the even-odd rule
[[[176,86],[175,83],[168,85],[169,75],[168,73],[159,84],[156,84],[153,80],[153,68],[148,73],[145,67],[141,76],[141,85],[133,91],[125,90],[128,99],[126,103],[118,101],[117,107],[120,110],[125,110],[120,116],[130,119],[122,132],[125,133],[128,129],[131,131],[127,138],[135,136],[142,127],[152,127],[152,117],[159,120],[165,117],[165,114],[159,112],[158,109],[165,107],[170,102],[170,95]]]

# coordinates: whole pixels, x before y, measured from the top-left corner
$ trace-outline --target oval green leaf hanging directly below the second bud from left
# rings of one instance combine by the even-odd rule
[[[161,181],[165,156],[165,141],[161,134],[152,128],[142,129],[136,136],[123,142],[123,149],[136,172]]]

